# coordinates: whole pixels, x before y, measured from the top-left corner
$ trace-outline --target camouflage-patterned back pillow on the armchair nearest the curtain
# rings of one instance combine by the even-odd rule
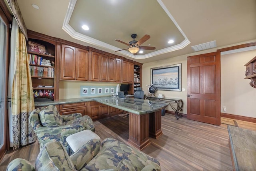
[[[49,105],[39,113],[40,121],[44,127],[63,125],[62,117],[55,105]]]

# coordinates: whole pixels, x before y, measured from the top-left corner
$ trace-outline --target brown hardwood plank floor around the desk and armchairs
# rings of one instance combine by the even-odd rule
[[[239,127],[256,131],[256,123],[236,120]],[[112,137],[127,143],[129,119],[114,116],[94,122],[101,139]],[[163,135],[150,138],[150,145],[142,151],[160,162],[166,170],[232,170],[228,147],[227,125],[210,125],[188,120],[176,120],[174,115],[162,117]],[[0,162],[0,170],[6,170],[10,161],[21,157],[34,165],[39,153],[38,142],[15,151],[8,151]]]

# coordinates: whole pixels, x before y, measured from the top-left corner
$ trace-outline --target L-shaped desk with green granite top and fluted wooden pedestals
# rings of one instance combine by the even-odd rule
[[[81,101],[97,101],[129,112],[128,143],[139,150],[150,144],[149,137],[157,138],[162,135],[161,110],[168,103],[135,98],[118,98],[114,96],[62,99],[56,101],[36,102],[36,107]]]

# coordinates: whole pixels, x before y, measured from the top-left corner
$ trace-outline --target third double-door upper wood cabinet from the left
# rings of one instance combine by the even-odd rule
[[[121,82],[121,59],[108,56],[108,82]]]

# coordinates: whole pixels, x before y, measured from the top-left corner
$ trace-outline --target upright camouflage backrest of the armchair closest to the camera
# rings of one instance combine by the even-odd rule
[[[49,142],[44,145],[36,159],[36,171],[75,171],[68,153],[60,142]]]

